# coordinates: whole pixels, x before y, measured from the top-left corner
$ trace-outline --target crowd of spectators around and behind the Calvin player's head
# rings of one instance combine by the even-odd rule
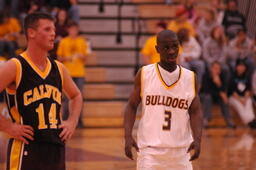
[[[68,35],[68,23],[78,24],[80,19],[77,0],[0,0],[1,57],[14,57],[25,47],[22,22],[27,14],[33,12],[47,12],[56,18],[56,45]]]

